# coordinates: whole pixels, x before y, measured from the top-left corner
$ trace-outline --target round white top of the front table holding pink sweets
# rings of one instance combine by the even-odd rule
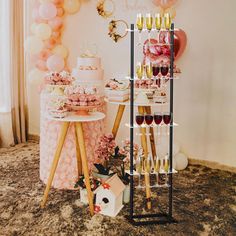
[[[106,115],[102,112],[90,112],[89,114],[90,115],[88,116],[80,116],[75,114],[75,112],[69,112],[64,118],[55,118],[49,114],[45,114],[45,117],[49,120],[61,122],[92,122],[102,120],[106,117]]]

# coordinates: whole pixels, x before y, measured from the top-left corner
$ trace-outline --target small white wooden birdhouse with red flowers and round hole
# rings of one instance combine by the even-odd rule
[[[123,207],[123,191],[125,185],[117,174],[100,185],[94,193],[96,194],[95,211],[103,215],[115,217]]]

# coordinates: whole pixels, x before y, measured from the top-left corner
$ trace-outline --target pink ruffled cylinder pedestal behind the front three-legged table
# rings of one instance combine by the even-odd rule
[[[50,94],[42,92],[40,96],[40,179],[44,183],[47,182],[50,173],[61,130],[61,122],[49,120],[44,116],[49,100]],[[104,112],[105,106],[101,110]],[[95,149],[98,138],[104,133],[104,123],[104,120],[83,123],[87,159],[90,169],[96,159]],[[52,186],[58,189],[73,189],[78,179],[77,175],[75,131],[74,125],[70,125]]]

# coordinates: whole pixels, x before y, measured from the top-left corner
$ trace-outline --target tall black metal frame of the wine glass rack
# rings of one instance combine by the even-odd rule
[[[173,210],[173,173],[169,174],[169,208],[168,213],[154,213],[154,214],[139,214],[134,215],[134,170],[133,170],[133,143],[134,143],[134,59],[135,59],[135,45],[134,45],[134,24],[130,27],[130,212],[128,220],[134,225],[149,225],[149,224],[166,224],[176,222],[172,216]],[[171,42],[170,42],[170,136],[169,136],[169,160],[170,170],[173,166],[173,89],[174,89],[174,24],[171,24]],[[143,220],[147,219],[147,220]],[[149,220],[148,220],[149,219]]]

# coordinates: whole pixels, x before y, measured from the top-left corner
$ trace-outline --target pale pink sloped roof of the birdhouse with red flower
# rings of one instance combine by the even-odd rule
[[[117,174],[115,174],[111,178],[109,178],[104,184],[100,185],[95,190],[95,193],[98,193],[101,189],[108,189],[115,196],[119,196],[120,193],[124,191],[125,185],[120,180],[120,178],[117,176]]]

